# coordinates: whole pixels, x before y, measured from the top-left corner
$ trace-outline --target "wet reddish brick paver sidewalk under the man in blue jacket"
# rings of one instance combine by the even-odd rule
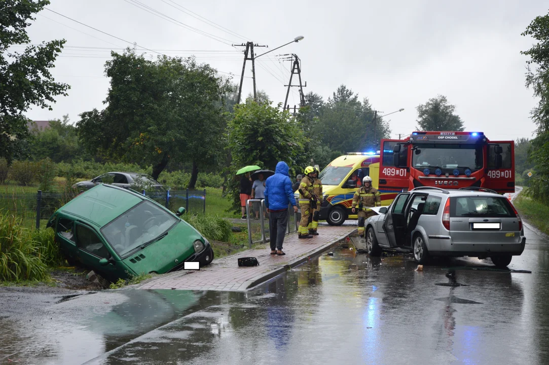
[[[344,239],[354,226],[321,226],[320,235],[311,239],[298,239],[297,234],[284,239],[285,256],[271,256],[268,248],[247,250],[236,255],[214,260],[200,271],[178,271],[153,278],[139,285],[138,289],[192,289],[244,291],[278,276],[289,268],[309,260],[330,246]],[[238,257],[256,257],[259,266],[238,267]]]

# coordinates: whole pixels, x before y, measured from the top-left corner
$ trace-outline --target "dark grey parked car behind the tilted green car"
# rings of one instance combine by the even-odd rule
[[[137,172],[107,172],[89,181],[78,182],[74,184],[74,187],[87,190],[102,183],[121,188],[164,190],[161,183],[148,175]]]

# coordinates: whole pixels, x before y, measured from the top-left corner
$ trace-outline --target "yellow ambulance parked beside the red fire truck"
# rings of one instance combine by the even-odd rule
[[[388,158],[393,158],[389,156]],[[372,178],[373,187],[381,193],[382,205],[389,205],[402,188],[383,187],[379,189],[379,153],[353,152],[330,162],[320,172],[323,203],[320,208],[320,220],[326,220],[332,226],[340,226],[348,219],[357,219],[352,214],[352,196],[362,186],[362,178]],[[298,199],[299,194],[296,194]]]

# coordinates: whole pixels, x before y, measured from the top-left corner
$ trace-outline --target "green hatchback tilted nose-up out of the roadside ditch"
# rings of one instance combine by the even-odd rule
[[[208,240],[179,217],[184,211],[173,214],[134,190],[100,184],[57,210],[48,227],[69,263],[115,281],[214,259]]]

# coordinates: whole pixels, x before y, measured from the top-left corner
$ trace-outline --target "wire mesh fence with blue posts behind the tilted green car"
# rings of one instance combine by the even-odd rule
[[[27,228],[46,227],[56,210],[72,200],[80,191],[62,193],[30,192],[29,189],[0,191],[0,212],[20,218]],[[167,192],[142,192],[143,195],[162,204],[171,211],[184,207],[190,214],[206,212],[206,190],[171,190]]]

